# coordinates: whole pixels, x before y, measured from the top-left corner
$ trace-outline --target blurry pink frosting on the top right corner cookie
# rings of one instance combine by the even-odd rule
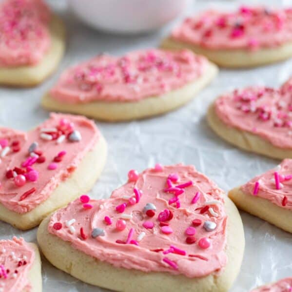
[[[207,10],[185,19],[172,38],[208,49],[276,47],[292,41],[292,9],[242,6],[235,12]]]

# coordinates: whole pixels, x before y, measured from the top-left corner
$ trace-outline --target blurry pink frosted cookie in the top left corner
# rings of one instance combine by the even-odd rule
[[[0,84],[33,86],[57,68],[65,29],[43,0],[0,3]]]

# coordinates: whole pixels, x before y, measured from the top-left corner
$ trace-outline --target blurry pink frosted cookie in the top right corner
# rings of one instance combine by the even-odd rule
[[[162,43],[188,48],[224,67],[250,67],[292,56],[292,9],[242,6],[187,18]]]

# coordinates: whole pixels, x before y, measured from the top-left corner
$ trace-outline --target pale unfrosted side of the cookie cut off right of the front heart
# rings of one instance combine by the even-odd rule
[[[292,210],[279,207],[256,195],[245,194],[239,187],[232,189],[228,195],[239,209],[292,233]]]

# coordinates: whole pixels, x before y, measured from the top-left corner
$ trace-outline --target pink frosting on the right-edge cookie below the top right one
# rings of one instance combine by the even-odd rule
[[[228,126],[258,135],[279,148],[292,148],[292,78],[280,89],[249,87],[215,101]]]

